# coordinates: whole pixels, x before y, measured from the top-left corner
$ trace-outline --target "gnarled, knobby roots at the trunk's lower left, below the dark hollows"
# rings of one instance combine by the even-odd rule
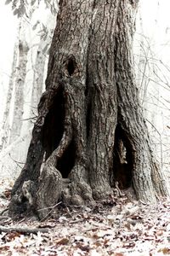
[[[54,166],[45,165],[39,178],[37,193],[33,195],[32,189],[35,190],[35,187],[31,181],[23,183],[22,188],[12,197],[9,216],[17,218],[33,213],[44,219],[49,214],[53,215],[59,201],[65,205],[95,204],[82,166],[75,166],[68,178],[62,178]]]

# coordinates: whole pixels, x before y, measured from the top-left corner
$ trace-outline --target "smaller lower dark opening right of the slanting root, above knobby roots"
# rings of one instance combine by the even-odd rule
[[[59,170],[63,178],[68,177],[69,173],[71,172],[71,169],[75,165],[75,159],[76,159],[76,145],[74,143],[74,140],[72,140],[70,145],[62,155],[62,157],[58,160],[58,163],[56,166],[57,170]]]

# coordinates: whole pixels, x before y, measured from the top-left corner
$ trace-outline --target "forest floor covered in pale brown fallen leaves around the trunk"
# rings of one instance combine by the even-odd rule
[[[1,211],[8,207],[10,185],[0,183]],[[129,201],[122,194],[94,208],[58,204],[54,216],[43,222],[32,218],[14,222],[1,214],[0,255],[170,254],[170,201],[153,206]],[[4,232],[6,228],[14,230]]]

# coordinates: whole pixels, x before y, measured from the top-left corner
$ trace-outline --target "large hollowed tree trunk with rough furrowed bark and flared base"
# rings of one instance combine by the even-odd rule
[[[137,2],[60,1],[46,91],[10,215],[33,207],[43,218],[59,200],[93,203],[116,181],[143,201],[168,194],[133,76]]]

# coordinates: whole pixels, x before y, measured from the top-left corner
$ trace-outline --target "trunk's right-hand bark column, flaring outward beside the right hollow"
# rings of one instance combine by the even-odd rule
[[[130,12],[131,10],[131,12]],[[127,141],[131,145],[133,157],[133,186],[138,198],[146,201],[156,201],[154,190],[156,183],[152,183],[151,172],[156,168],[150,153],[150,140],[141,109],[139,107],[138,91],[133,77],[132,41],[133,26],[129,32],[127,20],[133,19],[132,11],[126,9],[122,2],[120,19],[117,25],[119,33],[116,41],[116,84],[118,97],[118,117],[122,129],[126,133]],[[120,58],[121,57],[121,58]],[[123,99],[123,101],[122,101]],[[158,183],[162,181],[157,179]],[[163,183],[161,183],[162,188]],[[155,189],[154,189],[155,188]],[[165,189],[166,190],[166,189]],[[167,192],[164,190],[164,195]],[[159,193],[161,195],[161,193]]]

